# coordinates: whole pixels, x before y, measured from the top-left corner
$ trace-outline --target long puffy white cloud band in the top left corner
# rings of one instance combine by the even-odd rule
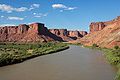
[[[30,8],[27,8],[27,7],[19,7],[19,8],[16,8],[16,7],[12,7],[10,5],[6,5],[6,4],[0,4],[0,11],[5,11],[7,13],[11,13],[13,11],[16,11],[16,12],[23,12],[23,11],[27,11],[27,10],[32,10],[32,9],[35,9],[35,8],[39,8],[39,4],[32,4],[30,6]]]

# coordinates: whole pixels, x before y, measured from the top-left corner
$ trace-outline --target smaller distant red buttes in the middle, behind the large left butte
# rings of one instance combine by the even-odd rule
[[[61,37],[64,41],[77,40],[87,34],[86,31],[68,31],[67,29],[49,29],[49,31]]]

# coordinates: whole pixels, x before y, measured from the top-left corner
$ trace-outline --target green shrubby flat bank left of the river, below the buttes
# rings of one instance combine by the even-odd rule
[[[0,43],[0,66],[15,64],[27,59],[69,48],[63,43],[15,44]]]

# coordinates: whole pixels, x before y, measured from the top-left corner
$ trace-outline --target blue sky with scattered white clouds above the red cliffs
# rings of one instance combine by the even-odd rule
[[[0,0],[0,25],[41,22],[48,28],[89,31],[120,16],[120,0]]]

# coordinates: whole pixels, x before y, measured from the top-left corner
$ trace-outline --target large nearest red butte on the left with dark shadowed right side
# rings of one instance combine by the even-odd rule
[[[0,42],[46,42],[63,41],[62,38],[49,32],[42,23],[30,25],[0,27]]]

